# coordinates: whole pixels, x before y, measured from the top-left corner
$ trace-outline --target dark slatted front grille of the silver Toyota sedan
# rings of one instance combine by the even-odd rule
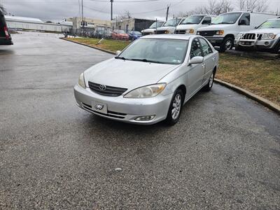
[[[126,88],[123,87],[111,87],[111,86],[106,86],[104,90],[100,89],[100,84],[97,83],[92,83],[88,82],[88,85],[90,87],[90,90],[93,92],[96,92],[98,94],[106,95],[106,96],[111,96],[111,97],[118,97],[121,94],[123,94],[125,91],[127,91]]]

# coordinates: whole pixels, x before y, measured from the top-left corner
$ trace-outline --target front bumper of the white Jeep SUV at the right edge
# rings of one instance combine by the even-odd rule
[[[242,48],[255,48],[255,49],[273,49],[277,43],[277,39],[272,40],[255,40],[255,39],[239,39],[235,40],[235,46]]]

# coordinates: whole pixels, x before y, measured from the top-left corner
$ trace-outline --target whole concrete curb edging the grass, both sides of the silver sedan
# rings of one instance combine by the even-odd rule
[[[103,52],[107,52],[107,53],[116,55],[116,52],[113,52],[111,50],[104,50],[102,48],[93,47],[91,45],[87,45],[87,44],[84,44],[84,43],[79,43],[77,41],[72,41],[72,40],[69,40],[69,39],[66,39],[66,38],[63,38],[63,37],[60,38],[60,39],[63,39],[65,41],[70,41],[70,42],[73,42],[73,43],[77,43],[79,45],[84,45],[84,46],[87,46],[87,47],[90,47],[90,48],[94,48],[96,50],[101,50]],[[278,106],[277,104],[274,104],[273,102],[270,102],[269,100],[267,100],[267,99],[265,99],[263,97],[260,97],[260,96],[258,96],[256,94],[253,94],[252,92],[249,92],[248,90],[244,90],[241,87],[237,87],[235,85],[232,85],[230,83],[224,82],[222,80],[215,79],[214,81],[216,83],[220,84],[220,85],[223,85],[223,86],[228,87],[228,88],[230,88],[232,90],[235,90],[236,92],[244,94],[246,97],[248,97],[250,99],[253,99],[255,102],[258,102],[259,104],[262,104],[263,106],[266,106],[268,109],[270,109],[272,111],[275,111],[276,113],[280,114],[280,106]]]

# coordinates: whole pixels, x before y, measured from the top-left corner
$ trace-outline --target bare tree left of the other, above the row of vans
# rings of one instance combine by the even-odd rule
[[[232,2],[230,0],[209,0],[208,5],[200,6],[195,10],[190,11],[190,15],[193,14],[209,14],[220,15],[233,10]]]

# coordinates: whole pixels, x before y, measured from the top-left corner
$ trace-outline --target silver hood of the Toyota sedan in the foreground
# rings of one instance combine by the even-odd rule
[[[123,59],[108,59],[96,64],[84,73],[85,83],[124,87],[133,90],[158,81],[180,65],[155,64]]]

